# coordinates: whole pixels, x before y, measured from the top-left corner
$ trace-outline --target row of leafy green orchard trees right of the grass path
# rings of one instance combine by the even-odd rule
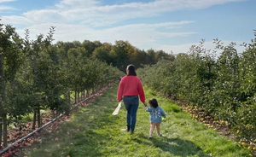
[[[174,61],[159,61],[138,70],[143,83],[164,96],[204,108],[214,119],[226,120],[237,135],[256,138],[256,30],[239,54],[236,43],[214,40],[216,49],[205,49],[204,40]],[[220,54],[218,54],[220,52]]]

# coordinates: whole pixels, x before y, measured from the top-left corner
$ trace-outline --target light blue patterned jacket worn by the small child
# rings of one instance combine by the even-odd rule
[[[160,108],[160,106],[158,106],[157,108],[146,107],[146,111],[150,112],[149,118],[151,123],[160,123],[162,121],[162,116],[166,118],[166,113],[162,108]]]

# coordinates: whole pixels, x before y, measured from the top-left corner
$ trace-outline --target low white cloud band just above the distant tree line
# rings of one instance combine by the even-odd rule
[[[73,41],[84,39],[100,40],[101,42],[113,43],[115,40],[128,40],[131,44],[143,49],[144,44],[154,44],[161,38],[183,37],[195,34],[195,32],[158,32],[157,29],[162,27],[183,26],[194,21],[166,22],[159,24],[134,24],[126,26],[116,26],[108,29],[94,29],[82,24],[65,24],[65,23],[44,23],[27,28],[31,32],[31,37],[36,37],[39,33],[46,34],[49,26],[56,26],[55,41]],[[23,29],[17,30],[19,34],[24,34]]]

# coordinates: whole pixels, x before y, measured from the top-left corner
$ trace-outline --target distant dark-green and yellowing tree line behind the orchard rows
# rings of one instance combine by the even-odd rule
[[[123,72],[125,72],[126,66],[131,63],[136,67],[143,67],[143,65],[154,65],[160,60],[174,60],[174,55],[168,54],[163,50],[148,49],[145,51],[137,49],[128,41],[123,40],[115,41],[114,44],[101,43],[100,41],[91,42],[89,40],[84,40],[83,42],[59,41],[55,45],[60,47],[63,52],[67,52],[69,49],[86,50],[84,55],[95,57],[113,67],[118,67]]]

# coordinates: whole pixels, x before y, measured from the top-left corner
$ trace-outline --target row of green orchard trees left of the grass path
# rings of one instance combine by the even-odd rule
[[[52,44],[55,27],[35,40],[20,38],[13,26],[0,25],[0,148],[7,146],[8,125],[33,114],[32,130],[42,125],[41,109],[68,113],[73,100],[124,75],[84,47]],[[73,96],[74,95],[74,96]]]

